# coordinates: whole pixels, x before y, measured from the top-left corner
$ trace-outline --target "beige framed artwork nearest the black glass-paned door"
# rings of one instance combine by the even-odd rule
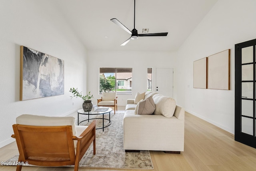
[[[230,49],[208,56],[208,89],[230,90]]]

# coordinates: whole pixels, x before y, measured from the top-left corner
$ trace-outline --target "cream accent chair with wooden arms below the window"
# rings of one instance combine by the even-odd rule
[[[98,106],[114,107],[114,114],[117,111],[116,92],[102,92],[102,97],[98,100]]]

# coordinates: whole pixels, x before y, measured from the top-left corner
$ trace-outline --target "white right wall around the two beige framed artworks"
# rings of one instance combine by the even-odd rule
[[[218,0],[178,51],[177,103],[234,133],[234,45],[256,38],[255,0]],[[193,88],[193,62],[231,49],[231,90]]]

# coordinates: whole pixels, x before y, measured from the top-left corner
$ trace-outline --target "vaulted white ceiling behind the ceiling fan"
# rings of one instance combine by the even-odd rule
[[[55,0],[56,10],[88,50],[176,51],[217,0],[136,0],[135,28],[142,34],[168,32],[166,37],[139,37],[125,46],[128,32],[110,21],[134,28],[134,0]]]

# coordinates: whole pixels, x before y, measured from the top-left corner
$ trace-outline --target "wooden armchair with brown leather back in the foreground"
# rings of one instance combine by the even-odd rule
[[[96,154],[96,120],[89,126],[76,126],[74,117],[20,115],[12,125],[20,153],[19,162],[38,166],[75,165],[93,142]],[[17,165],[16,171],[21,171]]]

